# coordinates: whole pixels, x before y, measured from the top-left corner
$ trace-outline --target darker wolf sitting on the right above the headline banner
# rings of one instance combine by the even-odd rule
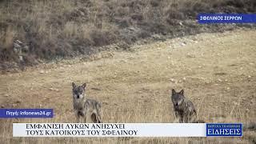
[[[205,123],[197,120],[194,104],[184,96],[184,90],[176,92],[172,89],[171,101],[174,104],[174,114],[180,123]]]

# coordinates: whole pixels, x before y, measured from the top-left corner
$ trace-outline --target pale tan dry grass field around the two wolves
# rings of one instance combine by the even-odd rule
[[[54,118],[1,119],[1,143],[255,143],[250,130],[242,138],[12,138],[13,122],[74,122],[71,82],[87,82],[103,122],[173,122],[172,88],[184,89],[206,122],[254,122],[255,35],[197,34],[1,74],[0,106],[54,109]]]

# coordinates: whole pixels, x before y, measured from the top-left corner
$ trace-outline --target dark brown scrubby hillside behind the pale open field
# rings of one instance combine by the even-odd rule
[[[254,0],[2,0],[0,68],[93,54],[114,43],[127,50],[144,38],[232,29],[234,25],[198,25],[196,15],[255,11]],[[27,46],[22,60],[15,40]]]

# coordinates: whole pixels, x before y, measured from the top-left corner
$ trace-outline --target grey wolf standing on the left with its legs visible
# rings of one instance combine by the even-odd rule
[[[80,122],[80,117],[84,118],[84,122],[86,122],[86,117],[89,115],[92,122],[102,123],[102,105],[94,99],[86,98],[86,83],[76,86],[72,82],[72,86],[73,106],[77,122]]]

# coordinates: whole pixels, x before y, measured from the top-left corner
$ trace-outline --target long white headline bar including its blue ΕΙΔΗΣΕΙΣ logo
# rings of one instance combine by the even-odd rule
[[[241,137],[242,123],[13,123],[13,137]]]

